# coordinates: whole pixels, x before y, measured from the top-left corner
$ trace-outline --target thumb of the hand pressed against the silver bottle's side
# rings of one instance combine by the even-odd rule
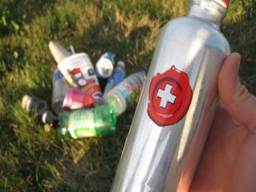
[[[249,93],[238,76],[241,56],[229,55],[218,75],[218,93],[230,115],[256,133],[256,97]]]

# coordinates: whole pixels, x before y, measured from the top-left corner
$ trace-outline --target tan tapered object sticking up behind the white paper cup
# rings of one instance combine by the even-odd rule
[[[57,63],[65,59],[67,56],[72,55],[69,51],[67,51],[67,49],[62,47],[61,44],[56,41],[49,42],[49,50]]]

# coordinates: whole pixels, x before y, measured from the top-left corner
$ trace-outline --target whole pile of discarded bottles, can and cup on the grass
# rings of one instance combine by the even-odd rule
[[[55,41],[49,49],[57,62],[51,109],[35,96],[23,96],[22,108],[51,125],[64,138],[103,137],[116,130],[116,119],[134,105],[146,79],[144,71],[125,74],[125,62],[107,52],[95,67],[86,53],[71,52]],[[53,111],[53,112],[51,112]]]

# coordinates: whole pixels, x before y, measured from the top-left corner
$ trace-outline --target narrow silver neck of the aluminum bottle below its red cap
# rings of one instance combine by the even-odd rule
[[[221,0],[192,0],[189,16],[207,20],[213,26],[219,27],[224,20],[226,10]]]

